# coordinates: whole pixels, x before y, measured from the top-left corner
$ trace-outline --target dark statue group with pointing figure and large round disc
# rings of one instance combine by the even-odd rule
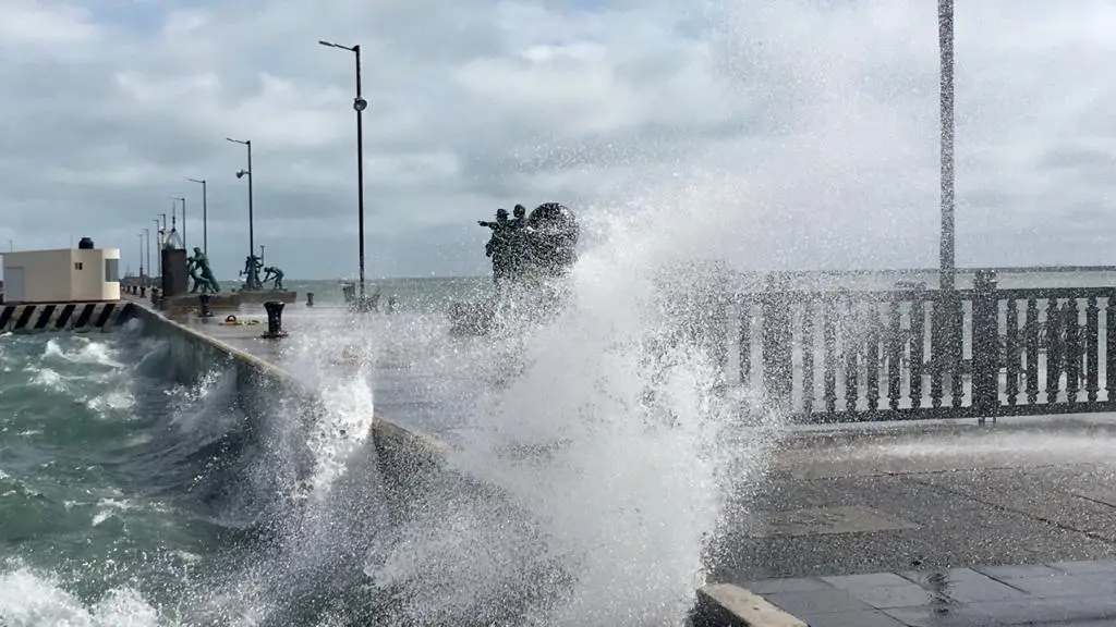
[[[527,208],[517,204],[510,219],[508,211],[500,209],[494,221],[477,223],[492,231],[484,254],[492,260],[498,292],[509,281],[560,274],[576,259],[577,221],[561,204],[540,204],[530,215]]]

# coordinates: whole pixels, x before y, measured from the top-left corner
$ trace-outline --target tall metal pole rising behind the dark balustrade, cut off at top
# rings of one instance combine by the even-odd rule
[[[953,0],[937,0],[937,47],[941,56],[942,240],[941,289],[954,287],[953,222]]]

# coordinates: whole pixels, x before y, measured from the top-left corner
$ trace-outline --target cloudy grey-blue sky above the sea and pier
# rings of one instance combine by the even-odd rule
[[[219,278],[479,274],[497,208],[706,203],[749,269],[934,267],[927,0],[2,0],[0,249],[121,248],[185,196]],[[959,266],[1116,262],[1116,3],[960,2]],[[598,220],[599,222],[599,220]],[[591,239],[591,238],[590,238]],[[9,240],[9,241],[4,241]],[[606,241],[622,247],[624,241]]]

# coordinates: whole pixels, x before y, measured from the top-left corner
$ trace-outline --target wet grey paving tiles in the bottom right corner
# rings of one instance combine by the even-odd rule
[[[1116,627],[1116,560],[742,582],[810,627]]]

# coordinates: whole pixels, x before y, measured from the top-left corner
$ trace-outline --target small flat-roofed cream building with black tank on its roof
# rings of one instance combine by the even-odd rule
[[[2,254],[6,303],[121,299],[119,249],[27,250]]]

